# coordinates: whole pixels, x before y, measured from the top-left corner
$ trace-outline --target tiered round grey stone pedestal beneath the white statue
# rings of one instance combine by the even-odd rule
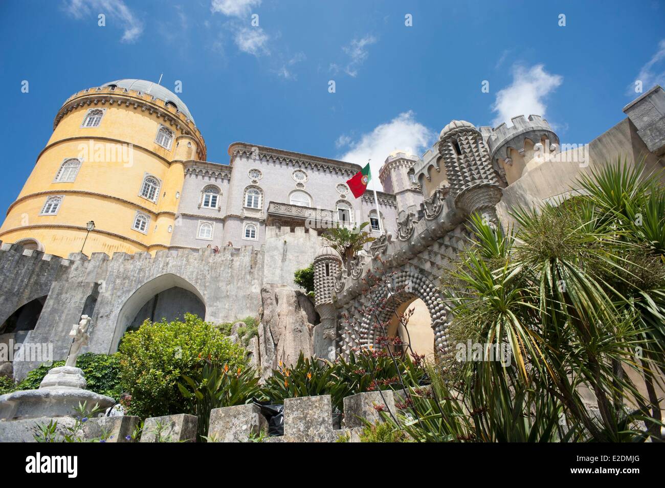
[[[73,416],[78,404],[85,403],[87,412],[97,404],[113,406],[115,400],[85,390],[87,383],[80,368],[53,368],[42,380],[39,390],[23,390],[0,396],[0,420],[22,420],[37,417]]]

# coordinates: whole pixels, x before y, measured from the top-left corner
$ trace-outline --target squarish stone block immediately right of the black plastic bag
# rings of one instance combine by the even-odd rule
[[[303,396],[284,400],[285,442],[332,442],[330,395]]]

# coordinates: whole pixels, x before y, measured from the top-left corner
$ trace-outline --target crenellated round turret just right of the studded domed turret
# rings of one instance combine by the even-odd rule
[[[527,119],[520,115],[511,121],[511,127],[480,128],[489,159],[504,185],[518,180],[533,160],[543,162],[559,149],[559,137],[541,116],[529,115]]]

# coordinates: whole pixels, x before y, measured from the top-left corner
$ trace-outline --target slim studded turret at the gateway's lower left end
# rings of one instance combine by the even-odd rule
[[[334,359],[337,335],[337,309],[333,304],[335,282],[342,269],[342,259],[330,246],[323,246],[314,258],[315,308],[321,324],[314,331],[314,353]]]

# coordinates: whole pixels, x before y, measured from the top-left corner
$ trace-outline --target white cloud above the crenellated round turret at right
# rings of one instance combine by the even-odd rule
[[[499,90],[492,105],[497,112],[492,124],[498,126],[502,122],[511,124],[511,117],[531,114],[545,116],[545,98],[563,82],[563,76],[545,71],[543,64],[535,64],[526,68],[516,64],[513,66],[513,82]]]

